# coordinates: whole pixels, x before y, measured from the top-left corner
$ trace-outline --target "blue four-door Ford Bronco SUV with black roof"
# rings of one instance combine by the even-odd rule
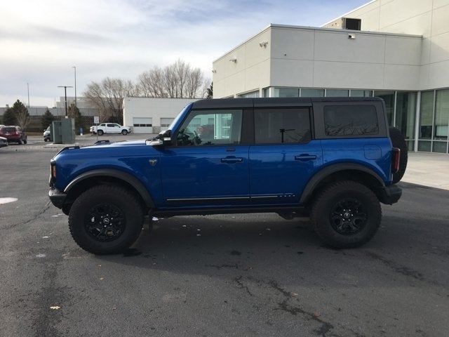
[[[145,216],[255,212],[310,216],[323,242],[350,248],[401,197],[406,154],[379,98],[199,100],[152,140],[62,149],[49,197],[95,254],[131,246]]]

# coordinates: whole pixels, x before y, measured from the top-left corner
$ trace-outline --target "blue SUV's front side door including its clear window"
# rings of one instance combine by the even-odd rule
[[[229,204],[249,199],[248,145],[241,145],[243,110],[192,110],[161,148],[168,204]]]

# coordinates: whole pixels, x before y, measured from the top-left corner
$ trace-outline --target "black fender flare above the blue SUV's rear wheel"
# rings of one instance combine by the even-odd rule
[[[307,201],[309,201],[311,195],[313,194],[316,186],[321,183],[321,180],[324,178],[330,176],[332,173],[336,173],[338,171],[347,171],[347,170],[354,170],[354,171],[363,171],[375,178],[380,186],[385,186],[384,180],[380,178],[380,176],[375,173],[372,169],[369,169],[366,166],[363,166],[361,164],[355,164],[355,163],[338,163],[338,164],[332,164],[330,166],[326,166],[324,169],[321,169],[315,175],[309,180],[306,187],[304,187],[304,191],[302,191],[300,204],[305,204]]]

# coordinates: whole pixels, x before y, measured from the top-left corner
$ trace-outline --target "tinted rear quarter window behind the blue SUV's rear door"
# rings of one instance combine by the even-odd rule
[[[379,134],[379,121],[374,105],[326,105],[323,112],[326,136]]]

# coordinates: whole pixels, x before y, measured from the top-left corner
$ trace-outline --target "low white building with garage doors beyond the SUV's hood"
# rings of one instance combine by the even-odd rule
[[[123,99],[123,125],[133,133],[159,133],[168,128],[177,114],[195,98],[126,97]]]

